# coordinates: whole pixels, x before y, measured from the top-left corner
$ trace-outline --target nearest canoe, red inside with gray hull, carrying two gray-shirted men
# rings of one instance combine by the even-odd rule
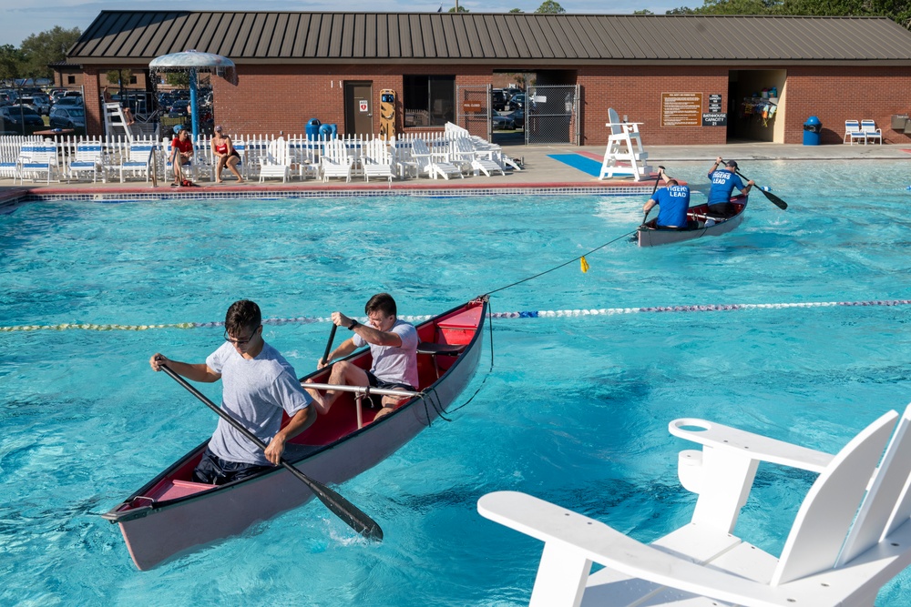
[[[439,417],[475,374],[481,355],[487,298],[417,325],[421,393],[373,423],[376,409],[358,410],[351,393],[292,439],[285,459],[322,483],[340,483],[389,457]],[[348,357],[370,369],[370,350]],[[328,380],[329,369],[303,379]],[[374,400],[377,397],[374,396]],[[358,428],[358,418],[363,427]],[[285,420],[287,421],[287,420]],[[133,562],[147,570],[182,552],[236,535],[309,501],[312,491],[283,468],[215,487],[191,481],[208,440],[103,515],[118,523]]]

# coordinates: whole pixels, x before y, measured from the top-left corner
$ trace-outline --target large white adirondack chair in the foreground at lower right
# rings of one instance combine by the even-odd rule
[[[524,493],[488,493],[477,509],[545,542],[536,607],[870,607],[911,564],[911,406],[898,417],[889,411],[834,456],[703,420],[672,421],[672,434],[702,444],[678,461],[681,484],[699,499],[689,524],[650,545]],[[760,461],[819,473],[777,559],[732,535]],[[589,576],[592,562],[605,569]]]

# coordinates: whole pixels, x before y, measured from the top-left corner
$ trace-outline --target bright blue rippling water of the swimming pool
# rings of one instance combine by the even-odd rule
[[[707,169],[673,168],[693,183]],[[757,193],[721,238],[621,238],[588,274],[570,264],[497,293],[493,310],[909,298],[905,168],[753,163],[744,172],[786,212]],[[403,315],[433,314],[624,236],[644,198],[28,203],[0,215],[0,326],[206,322],[238,298],[325,317],[379,290]],[[462,399],[480,388],[475,400],[337,488],[379,521],[381,544],[314,501],[151,572],[97,515],[214,428],[147,361],[201,361],[221,329],[0,332],[0,604],[523,604],[540,544],[481,518],[481,495],[527,491],[650,541],[694,503],[670,420],[837,450],[911,400],[909,319],[909,306],[495,319],[493,369],[486,342]],[[328,332],[265,329],[299,374]],[[761,468],[737,531],[780,551],[812,480]],[[909,602],[906,573],[877,604]]]

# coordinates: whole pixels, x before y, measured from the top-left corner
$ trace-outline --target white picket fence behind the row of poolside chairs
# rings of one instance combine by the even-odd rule
[[[354,176],[363,176],[363,152],[367,149],[367,144],[376,140],[375,136],[353,136],[353,137],[307,137],[304,134],[292,134],[289,136],[276,137],[274,135],[250,135],[250,134],[230,134],[234,147],[241,155],[241,175],[247,179],[259,178],[260,169],[264,164],[275,161],[280,158],[281,162],[287,163],[288,175],[293,179],[306,179],[309,177],[319,178],[322,176],[322,154],[326,144],[330,140],[343,142],[345,149],[352,159],[352,173]],[[434,157],[447,162],[462,161],[464,170],[470,172],[470,163],[464,162],[464,142],[461,146],[456,145],[457,139],[469,139],[471,145],[477,150],[481,150],[487,157],[492,157],[497,164],[502,167],[512,164],[511,159],[504,156],[498,146],[487,143],[478,137],[470,137],[467,131],[460,129],[458,126],[447,126],[445,132],[439,134],[420,134],[404,135],[394,137],[384,145],[388,146],[389,153],[394,163],[394,173],[398,178],[405,177],[425,177],[422,176],[421,163],[415,161],[413,156],[413,142],[415,139],[422,139]],[[130,145],[153,144],[155,145],[155,162],[154,167],[159,179],[169,179],[171,176],[166,175],[168,166],[169,151],[171,139],[165,138],[159,141],[151,137],[134,136],[132,142],[128,137],[108,136],[108,137],[86,137],[86,136],[66,136],[43,139],[42,137],[17,137],[3,136],[0,137],[0,161],[15,162],[21,157],[21,148],[26,143],[42,142],[56,144],[58,153],[58,174],[57,179],[77,180],[77,177],[69,177],[67,167],[71,159],[76,156],[77,146],[79,144],[92,143],[100,144],[104,150],[102,158],[103,171],[107,179],[118,178],[118,167],[129,157]],[[217,158],[212,152],[210,137],[199,137],[195,145],[196,157],[193,166],[190,168],[190,175],[194,180],[210,181],[214,179],[214,167]],[[460,156],[461,154],[461,156]],[[271,174],[271,172],[270,172]]]

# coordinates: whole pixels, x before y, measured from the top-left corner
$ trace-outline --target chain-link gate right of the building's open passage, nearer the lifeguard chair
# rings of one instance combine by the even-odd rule
[[[525,143],[579,142],[579,86],[529,86],[525,107]]]

